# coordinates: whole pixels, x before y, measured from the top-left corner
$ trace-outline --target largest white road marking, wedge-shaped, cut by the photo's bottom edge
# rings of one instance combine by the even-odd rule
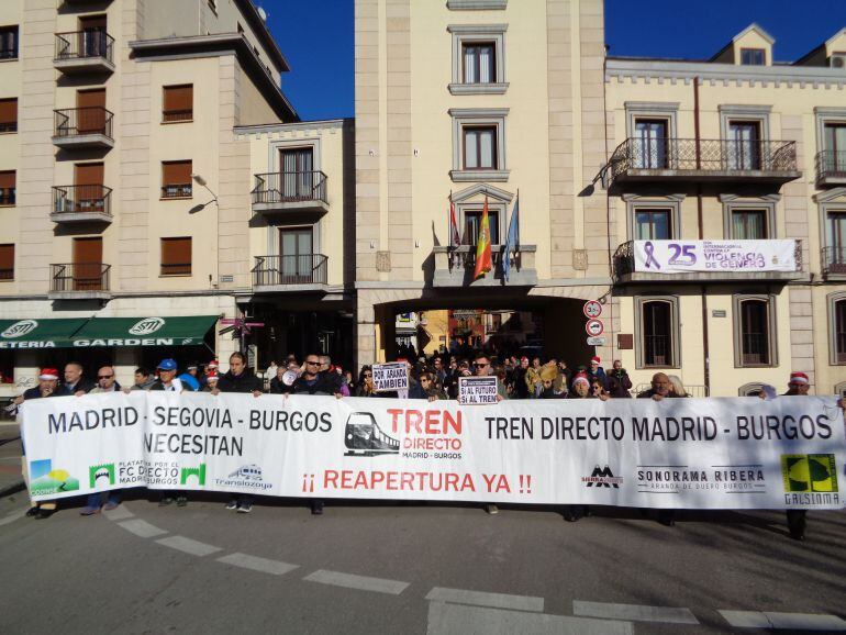
[[[427,635],[633,635],[631,622],[431,602]]]

